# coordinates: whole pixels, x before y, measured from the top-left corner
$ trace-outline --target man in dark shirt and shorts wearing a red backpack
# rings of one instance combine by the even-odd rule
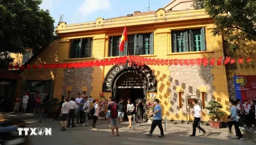
[[[112,134],[110,136],[114,137],[114,132],[116,128],[116,135],[118,134],[118,111],[119,107],[115,102],[115,98],[111,97],[111,103],[108,105],[108,110],[110,110],[110,125]]]

